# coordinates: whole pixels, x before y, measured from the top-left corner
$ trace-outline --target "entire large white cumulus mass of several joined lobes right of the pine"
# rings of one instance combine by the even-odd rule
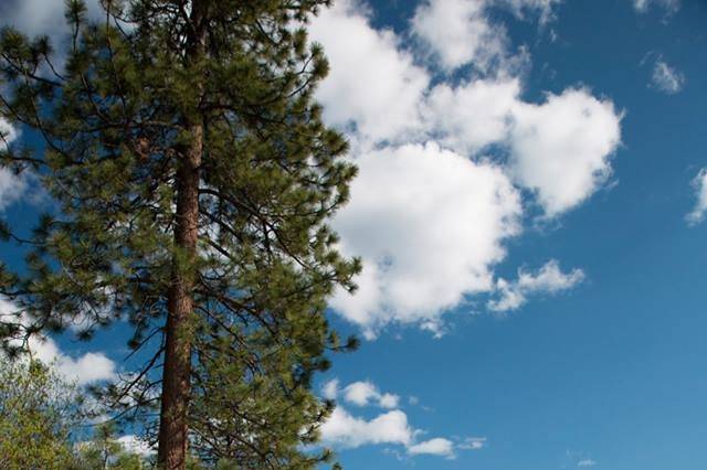
[[[560,216],[610,178],[621,143],[610,99],[570,87],[529,103],[523,75],[488,67],[507,61],[509,46],[489,9],[547,21],[556,3],[431,0],[414,13],[413,42],[374,29],[361,0],[314,19],[331,64],[318,98],[359,167],[335,227],[363,271],[356,295],[338,292],[333,307],[370,337],[391,322],[439,332],[444,312],[495,289],[495,266],[526,209]],[[451,78],[421,65],[430,52],[447,71],[474,66]]]

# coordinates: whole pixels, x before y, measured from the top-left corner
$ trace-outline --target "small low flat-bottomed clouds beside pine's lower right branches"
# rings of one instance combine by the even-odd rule
[[[357,406],[381,408],[398,407],[398,399],[386,403],[384,394],[371,382],[355,382],[339,389],[337,380],[329,381],[323,387],[325,397],[334,399],[341,395],[344,400]],[[391,396],[392,395],[389,394]],[[382,399],[381,399],[382,398]],[[341,406],[334,409],[331,416],[321,426],[325,444],[338,448],[358,448],[361,446],[395,445],[405,449],[410,456],[430,455],[453,459],[457,451],[478,450],[484,447],[485,438],[447,439],[434,437],[421,439],[424,431],[414,428],[408,415],[401,409],[388,409],[367,419],[354,416]],[[478,445],[477,445],[478,444]]]

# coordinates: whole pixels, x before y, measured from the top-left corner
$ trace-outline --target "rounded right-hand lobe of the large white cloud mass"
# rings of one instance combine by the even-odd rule
[[[519,103],[513,118],[509,172],[536,192],[547,216],[576,207],[610,177],[621,143],[612,102],[570,88],[540,105]]]

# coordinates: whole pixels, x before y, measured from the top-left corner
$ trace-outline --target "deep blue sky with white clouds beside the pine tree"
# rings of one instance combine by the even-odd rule
[[[12,21],[50,28],[38,11]],[[361,289],[330,314],[367,340],[317,384],[346,468],[707,466],[705,24],[701,0],[339,0],[314,21],[361,169],[334,222]],[[22,188],[0,178],[15,225]],[[54,345],[78,374],[124,367],[115,334]]]

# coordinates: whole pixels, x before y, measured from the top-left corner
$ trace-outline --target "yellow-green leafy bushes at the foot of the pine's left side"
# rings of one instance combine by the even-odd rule
[[[0,468],[3,470],[146,470],[144,459],[116,439],[113,425],[93,440],[83,396],[52,365],[0,363]]]

